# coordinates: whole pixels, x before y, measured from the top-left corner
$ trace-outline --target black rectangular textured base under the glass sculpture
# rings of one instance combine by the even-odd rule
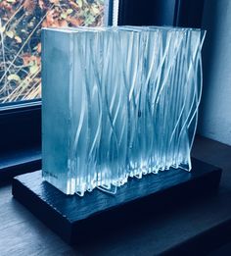
[[[50,229],[69,243],[97,239],[133,226],[138,220],[211,194],[221,169],[193,159],[191,173],[171,169],[158,175],[130,179],[115,195],[99,189],[84,197],[65,195],[41,178],[41,171],[13,181],[13,195]]]

